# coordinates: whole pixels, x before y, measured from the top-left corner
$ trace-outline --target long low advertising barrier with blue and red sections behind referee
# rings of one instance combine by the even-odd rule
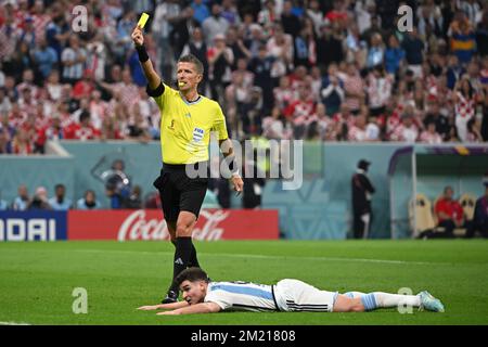
[[[277,210],[203,209],[193,239],[278,240]],[[0,211],[0,241],[169,240],[159,210]]]

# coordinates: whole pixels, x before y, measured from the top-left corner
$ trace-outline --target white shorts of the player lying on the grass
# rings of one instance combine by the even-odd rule
[[[337,294],[290,279],[282,280],[274,286],[277,305],[281,311],[332,312]]]

